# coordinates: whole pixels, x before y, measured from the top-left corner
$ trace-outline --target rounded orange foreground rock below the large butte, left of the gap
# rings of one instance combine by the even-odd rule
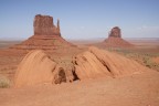
[[[33,50],[19,64],[14,86],[32,86],[43,83],[60,84],[62,82],[66,82],[63,67],[60,67],[43,51]]]

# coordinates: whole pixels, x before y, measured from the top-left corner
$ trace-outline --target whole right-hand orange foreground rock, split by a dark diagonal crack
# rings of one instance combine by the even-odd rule
[[[75,73],[80,80],[96,77],[118,77],[141,73],[147,67],[119,54],[89,47],[73,60]]]

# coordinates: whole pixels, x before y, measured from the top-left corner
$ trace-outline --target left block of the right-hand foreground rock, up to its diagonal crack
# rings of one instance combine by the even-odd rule
[[[80,80],[110,76],[108,70],[89,51],[76,55],[73,63]]]

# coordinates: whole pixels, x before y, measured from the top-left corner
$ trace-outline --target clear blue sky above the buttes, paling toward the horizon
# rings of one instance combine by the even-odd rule
[[[0,39],[33,35],[35,14],[60,19],[71,40],[107,38],[114,26],[123,38],[159,38],[159,0],[0,0]]]

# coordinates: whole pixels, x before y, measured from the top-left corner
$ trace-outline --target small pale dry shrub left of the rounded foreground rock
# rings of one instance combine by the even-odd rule
[[[10,80],[4,76],[0,76],[0,88],[8,88],[8,87],[10,87]]]

